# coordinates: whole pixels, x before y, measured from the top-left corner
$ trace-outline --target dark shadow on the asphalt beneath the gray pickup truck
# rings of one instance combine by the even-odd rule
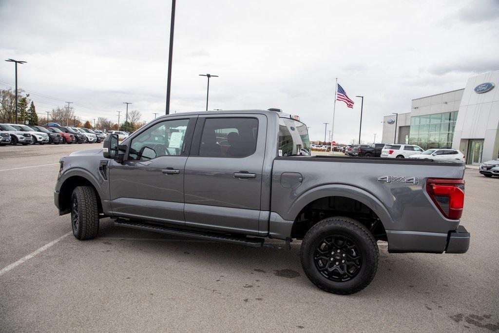
[[[170,261],[188,263],[200,271],[215,271],[225,277],[247,275],[256,280],[282,279],[293,290],[305,293],[316,290],[330,295],[318,290],[305,276],[299,257],[300,241],[292,242],[290,249],[279,240],[267,240],[262,248],[249,248],[114,227],[112,220],[108,219],[101,222],[95,241],[114,245],[118,251],[123,247],[127,252],[141,251],[142,255],[151,258],[164,256]],[[370,299],[389,295],[403,299],[408,294],[414,294],[426,299],[428,308],[432,308],[432,304],[435,308],[442,307],[436,300],[446,299],[445,295],[454,288],[448,277],[461,274],[456,272],[459,268],[446,260],[448,256],[389,254],[387,247],[381,245],[379,267],[373,282],[362,292],[349,297]],[[251,288],[253,285],[243,287]]]

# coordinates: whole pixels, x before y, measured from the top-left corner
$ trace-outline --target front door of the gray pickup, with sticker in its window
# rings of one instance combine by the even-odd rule
[[[184,169],[196,117],[158,120],[125,141],[124,161],[110,163],[116,216],[184,225]]]

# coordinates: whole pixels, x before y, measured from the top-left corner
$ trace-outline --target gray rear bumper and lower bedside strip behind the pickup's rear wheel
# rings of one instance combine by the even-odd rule
[[[466,253],[470,247],[470,233],[459,226],[448,233],[386,230],[390,253]]]

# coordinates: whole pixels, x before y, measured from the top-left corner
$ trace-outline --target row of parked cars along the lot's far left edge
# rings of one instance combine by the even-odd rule
[[[0,124],[0,145],[100,143],[105,134],[88,128],[63,126],[38,126],[22,124]]]

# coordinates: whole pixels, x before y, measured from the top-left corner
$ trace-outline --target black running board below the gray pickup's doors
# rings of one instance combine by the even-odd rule
[[[238,237],[227,234],[216,234],[205,231],[198,230],[188,230],[169,226],[162,226],[151,223],[127,221],[122,219],[117,219],[114,222],[116,227],[125,227],[138,230],[152,231],[162,234],[183,236],[204,239],[208,241],[225,242],[231,244],[246,245],[252,248],[261,248],[263,246],[263,238],[249,238],[249,237]]]

